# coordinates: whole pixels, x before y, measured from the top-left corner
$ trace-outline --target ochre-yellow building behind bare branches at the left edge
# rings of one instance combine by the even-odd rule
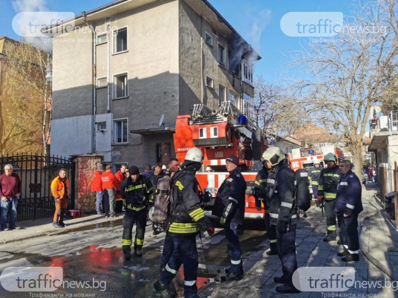
[[[51,55],[31,45],[9,40],[6,44],[6,81],[0,123],[0,150],[41,151],[49,154],[52,111]]]

